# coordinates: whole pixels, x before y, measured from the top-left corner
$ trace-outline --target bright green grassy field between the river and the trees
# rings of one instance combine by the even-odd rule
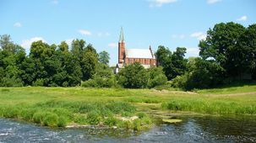
[[[0,87],[0,117],[46,126],[95,124],[143,130],[150,109],[256,114],[256,85],[182,92],[84,87]],[[154,115],[154,114],[153,114]]]

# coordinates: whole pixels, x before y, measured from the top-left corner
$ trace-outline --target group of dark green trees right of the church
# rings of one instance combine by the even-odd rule
[[[256,24],[215,24],[199,42],[199,57],[185,59],[185,53],[185,48],[172,53],[164,46],[155,53],[172,87],[191,90],[255,80]]]

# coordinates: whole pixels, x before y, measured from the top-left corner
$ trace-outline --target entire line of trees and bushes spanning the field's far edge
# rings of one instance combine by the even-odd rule
[[[113,74],[109,54],[97,53],[84,40],[68,47],[41,40],[30,53],[14,44],[9,35],[0,39],[0,87],[156,87],[166,84],[185,90],[217,87],[233,81],[256,79],[256,24],[215,24],[199,42],[199,57],[185,58],[186,48],[171,51],[163,45],[155,52],[157,67],[139,63]]]

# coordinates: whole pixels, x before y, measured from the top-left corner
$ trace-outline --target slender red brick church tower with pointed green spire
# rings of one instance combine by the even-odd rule
[[[125,56],[125,43],[123,37],[123,27],[121,27],[119,42],[118,42],[118,63],[123,64]]]

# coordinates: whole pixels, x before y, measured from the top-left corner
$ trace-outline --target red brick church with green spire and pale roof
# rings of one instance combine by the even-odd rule
[[[151,46],[149,49],[126,49],[123,28],[121,28],[118,41],[118,63],[115,68],[115,73],[118,73],[125,65],[139,62],[144,68],[155,66],[156,60]]]

